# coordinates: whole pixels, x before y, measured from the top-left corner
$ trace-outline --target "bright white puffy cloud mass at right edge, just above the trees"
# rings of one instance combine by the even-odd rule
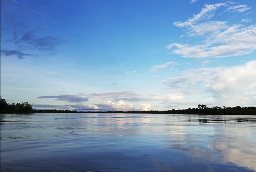
[[[206,88],[220,105],[256,105],[256,61],[220,70]]]

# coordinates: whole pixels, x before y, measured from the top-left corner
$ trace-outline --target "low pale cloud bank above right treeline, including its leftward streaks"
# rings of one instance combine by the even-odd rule
[[[153,94],[156,99],[179,102],[179,99],[185,98],[185,93],[188,96],[196,91],[198,96],[199,93],[209,94],[207,99],[219,106],[255,106],[256,61],[234,67],[189,69],[181,76],[162,80],[161,84],[175,90],[183,90],[183,93]],[[193,86],[197,87],[197,90],[188,92],[188,88],[193,89]]]

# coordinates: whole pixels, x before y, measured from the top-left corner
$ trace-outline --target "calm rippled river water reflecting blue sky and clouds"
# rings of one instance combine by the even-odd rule
[[[256,171],[256,116],[1,116],[1,172]]]

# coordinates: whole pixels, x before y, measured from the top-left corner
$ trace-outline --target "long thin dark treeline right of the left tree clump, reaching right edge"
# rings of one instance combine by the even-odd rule
[[[256,107],[218,107],[208,108],[199,104],[198,108],[172,109],[166,111],[76,111],[76,110],[34,110],[35,113],[133,113],[133,114],[199,114],[199,115],[256,115]]]

